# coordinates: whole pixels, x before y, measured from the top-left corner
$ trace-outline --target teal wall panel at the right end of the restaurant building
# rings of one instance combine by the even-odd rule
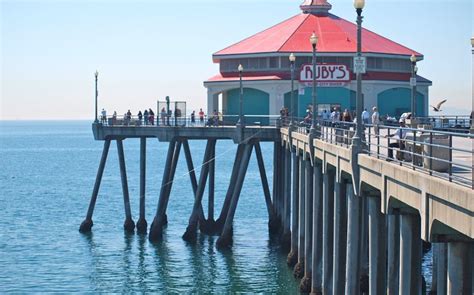
[[[392,88],[381,92],[377,96],[377,106],[381,116],[389,114],[399,117],[411,110],[411,89]],[[424,96],[420,92],[416,95],[416,115],[425,116]]]

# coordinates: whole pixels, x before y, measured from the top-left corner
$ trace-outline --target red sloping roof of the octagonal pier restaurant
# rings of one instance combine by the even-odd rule
[[[231,45],[214,54],[214,57],[235,54],[270,52],[310,53],[309,37],[318,36],[318,52],[355,53],[357,26],[333,14],[298,14],[265,31]],[[410,56],[420,53],[393,42],[369,30],[362,29],[362,52]]]

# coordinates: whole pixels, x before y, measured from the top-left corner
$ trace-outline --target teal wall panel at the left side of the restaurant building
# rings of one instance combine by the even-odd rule
[[[232,89],[227,91],[227,100],[223,105],[224,115],[239,115],[239,98],[240,89]],[[244,115],[264,115],[270,114],[270,95],[261,90],[254,88],[244,88],[243,95],[243,112]],[[234,119],[236,121],[236,119]],[[229,120],[229,121],[234,121]],[[227,118],[226,118],[227,121]],[[247,123],[261,122],[268,124],[268,117],[247,117]]]

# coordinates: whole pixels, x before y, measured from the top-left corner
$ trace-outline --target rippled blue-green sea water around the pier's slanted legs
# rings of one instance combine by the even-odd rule
[[[147,143],[146,216],[151,223],[167,144]],[[93,140],[89,122],[0,122],[0,292],[297,292],[286,255],[268,235],[254,157],[237,208],[231,252],[217,251],[214,237],[200,236],[196,245],[181,239],[193,204],[184,156],[171,192],[163,242],[153,245],[147,237],[126,235],[115,144],[92,234],[80,234],[102,144]],[[199,166],[204,142],[190,145]],[[235,148],[230,141],[217,144],[217,216]],[[273,146],[263,144],[262,149],[271,186]],[[138,140],[125,141],[125,154],[136,221]],[[207,198],[204,203],[207,212]]]

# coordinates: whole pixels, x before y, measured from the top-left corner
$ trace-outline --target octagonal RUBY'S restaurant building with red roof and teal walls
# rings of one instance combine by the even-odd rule
[[[318,112],[333,107],[355,110],[356,78],[353,57],[357,48],[357,26],[329,11],[326,0],[306,0],[302,13],[213,54],[220,72],[204,82],[208,91],[208,112],[220,109],[226,115],[239,110],[239,73],[244,67],[243,109],[246,115],[278,115],[290,108],[289,55],[296,55],[295,97],[298,115],[304,116],[311,103],[312,47],[309,37],[316,32],[318,63]],[[362,53],[367,58],[363,95],[367,109],[378,106],[381,115],[399,116],[411,109],[410,56],[423,55],[392,40],[363,29]],[[312,71],[311,71],[312,73]],[[309,78],[309,79],[308,79]],[[299,81],[299,83],[298,83]],[[309,82],[308,82],[309,81]],[[417,114],[428,115],[431,81],[417,76]],[[292,110],[290,109],[290,112]]]

